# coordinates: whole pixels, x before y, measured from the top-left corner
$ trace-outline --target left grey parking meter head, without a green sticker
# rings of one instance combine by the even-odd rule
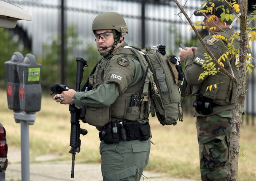
[[[9,61],[4,63],[5,74],[7,76],[7,101],[8,108],[14,111],[20,110],[19,105],[19,76],[17,64],[22,63],[24,56],[20,52],[15,52]]]

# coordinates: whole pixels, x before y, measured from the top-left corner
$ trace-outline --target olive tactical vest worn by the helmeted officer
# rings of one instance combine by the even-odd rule
[[[124,54],[124,52],[122,51],[123,49],[124,48],[121,48],[115,51],[114,55],[110,55],[109,57],[105,58],[105,60],[102,60],[101,63],[97,66],[94,74],[93,89],[97,89],[97,87],[99,87],[103,83],[110,83],[109,81],[106,82],[106,69],[109,67],[110,61],[116,61],[117,57],[125,56],[129,59],[129,61],[132,62],[132,56]],[[125,74],[126,71],[124,71],[124,68],[126,67],[120,66],[120,68],[114,69],[114,72],[122,73],[124,76],[131,79],[131,76]],[[131,80],[128,80],[128,82],[130,81]],[[104,126],[110,121],[110,118],[113,117],[121,118],[127,121],[136,121],[138,119],[148,118],[149,114],[146,111],[146,107],[148,107],[148,104],[146,101],[141,101],[139,106],[130,105],[132,94],[139,94],[140,88],[144,84],[143,79],[133,86],[126,85],[126,83],[115,83],[117,83],[119,86],[119,97],[117,97],[116,101],[111,104],[110,107],[91,108],[86,106],[87,123],[93,126]]]

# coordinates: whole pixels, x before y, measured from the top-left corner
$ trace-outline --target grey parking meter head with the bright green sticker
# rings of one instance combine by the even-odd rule
[[[35,56],[28,53],[22,63],[17,64],[19,76],[19,103],[20,110],[32,113],[41,109],[42,91],[40,85],[41,65],[36,62]]]

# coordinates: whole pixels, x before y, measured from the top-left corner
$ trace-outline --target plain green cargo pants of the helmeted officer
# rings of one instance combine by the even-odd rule
[[[150,139],[120,141],[118,144],[100,142],[103,181],[139,181],[148,165]]]

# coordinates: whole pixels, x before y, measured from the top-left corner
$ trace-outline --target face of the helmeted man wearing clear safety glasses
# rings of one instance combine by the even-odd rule
[[[97,48],[100,53],[108,52],[114,44],[114,35],[112,29],[102,29],[95,31]],[[103,47],[108,47],[103,49]]]

